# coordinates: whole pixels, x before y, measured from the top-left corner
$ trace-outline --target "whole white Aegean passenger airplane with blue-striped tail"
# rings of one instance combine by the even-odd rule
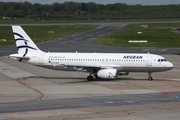
[[[116,79],[130,72],[146,72],[148,80],[152,81],[152,73],[174,67],[164,57],[150,53],[43,52],[21,26],[13,25],[12,30],[18,53],[9,55],[9,58],[48,69],[88,72],[88,81]]]

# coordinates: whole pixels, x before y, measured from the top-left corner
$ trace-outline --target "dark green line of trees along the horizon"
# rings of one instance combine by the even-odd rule
[[[179,5],[127,5],[125,3],[96,4],[94,2],[64,2],[39,4],[0,2],[3,17],[58,20],[118,20],[180,18]]]

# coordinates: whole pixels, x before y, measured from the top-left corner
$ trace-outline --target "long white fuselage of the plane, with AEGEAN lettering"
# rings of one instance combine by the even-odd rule
[[[154,54],[43,52],[32,54],[27,62],[55,70],[79,71],[83,68],[114,68],[120,72],[160,72],[173,68],[164,57]]]

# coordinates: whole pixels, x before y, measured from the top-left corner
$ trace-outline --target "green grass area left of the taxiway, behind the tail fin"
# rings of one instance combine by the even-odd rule
[[[62,25],[62,26],[23,26],[23,29],[35,43],[53,40],[76,33],[84,32],[98,27],[97,25]],[[54,31],[54,33],[48,33]],[[0,45],[15,44],[11,27],[0,26],[0,40],[6,39],[6,42],[0,42]]]

